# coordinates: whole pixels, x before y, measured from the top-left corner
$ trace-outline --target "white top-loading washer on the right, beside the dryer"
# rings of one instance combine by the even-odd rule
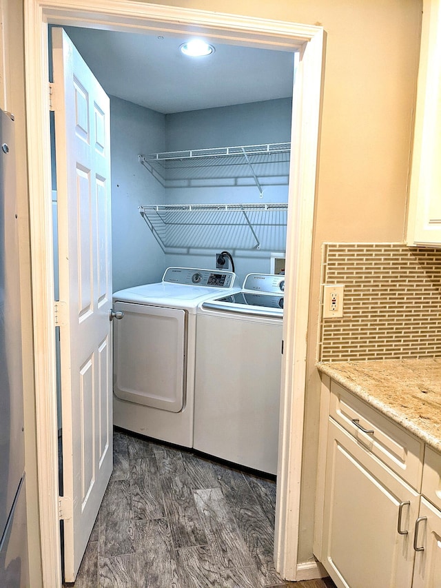
[[[277,473],[284,276],[198,307],[194,448]]]

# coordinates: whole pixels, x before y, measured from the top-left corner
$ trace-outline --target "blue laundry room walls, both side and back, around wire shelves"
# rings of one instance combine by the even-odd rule
[[[112,239],[114,291],[160,281],[165,267],[216,267],[216,251],[232,252],[242,283],[249,272],[270,272],[270,253],[229,245],[164,254],[138,212],[151,203],[286,202],[287,185],[164,188],[138,161],[139,154],[290,141],[291,99],[234,105],[178,114],[159,114],[111,97]],[[286,167],[286,166],[285,166]],[[263,229],[260,229],[262,232]],[[258,231],[259,232],[259,231]],[[191,246],[191,239],[189,239]]]

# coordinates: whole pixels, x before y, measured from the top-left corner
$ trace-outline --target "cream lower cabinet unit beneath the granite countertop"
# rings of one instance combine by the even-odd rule
[[[314,554],[338,588],[441,588],[441,454],[334,382],[329,415]]]

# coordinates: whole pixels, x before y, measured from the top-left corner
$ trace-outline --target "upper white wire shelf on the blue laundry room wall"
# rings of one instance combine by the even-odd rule
[[[164,187],[287,185],[291,143],[238,145],[139,155]]]

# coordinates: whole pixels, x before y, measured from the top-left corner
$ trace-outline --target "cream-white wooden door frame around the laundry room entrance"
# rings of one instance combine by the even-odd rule
[[[300,474],[306,383],[307,322],[324,31],[321,27],[130,0],[25,0],[32,298],[37,406],[37,459],[43,584],[61,586],[57,387],[50,174],[48,23],[110,30],[207,34],[263,48],[298,48],[294,88],[287,231],[287,280],[274,554],[283,578],[320,575],[297,565]]]

